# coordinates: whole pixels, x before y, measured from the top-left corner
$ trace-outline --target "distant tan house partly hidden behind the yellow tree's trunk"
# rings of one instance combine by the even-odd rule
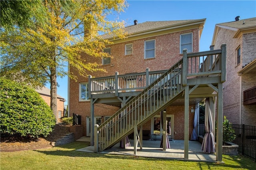
[[[48,106],[51,104],[51,95],[50,95],[50,89],[47,87],[42,87],[41,89],[36,89],[36,92],[40,94],[40,96],[44,99],[44,101],[47,103]],[[66,100],[64,97],[61,97],[57,94],[57,122],[60,122],[60,118],[64,117],[64,102]]]

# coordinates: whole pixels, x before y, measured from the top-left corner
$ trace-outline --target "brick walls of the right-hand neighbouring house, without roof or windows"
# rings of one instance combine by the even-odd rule
[[[256,85],[255,73],[248,75],[237,74],[246,64],[256,57],[256,33],[242,34],[233,38],[235,31],[220,28],[214,49],[219,49],[221,44],[227,44],[226,82],[223,83],[223,115],[230,123],[256,125],[256,105],[243,105],[243,91]],[[236,49],[240,47],[240,64],[237,65]],[[242,84],[242,87],[240,87]],[[240,88],[242,90],[240,90]],[[241,115],[240,115],[241,108]]]

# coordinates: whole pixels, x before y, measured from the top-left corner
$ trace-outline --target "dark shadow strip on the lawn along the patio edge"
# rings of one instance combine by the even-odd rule
[[[170,160],[170,159],[161,159],[161,158],[149,158],[149,157],[141,157],[141,156],[135,156],[135,155],[117,155],[117,154],[102,154],[102,153],[92,153],[92,152],[79,152],[76,151],[77,149],[84,148],[90,146],[90,142],[72,142],[70,144],[62,145],[62,146],[56,146],[50,149],[44,149],[44,150],[35,150],[36,152],[40,152],[46,155],[54,155],[54,156],[71,156],[71,157],[87,157],[87,158],[106,158],[106,159],[137,159],[137,160],[146,160],[146,161],[172,161],[179,162],[179,161],[185,161],[185,162],[197,162],[197,161],[191,161],[191,160]],[[242,161],[241,161],[242,160]],[[251,169],[252,167],[255,167],[255,163],[251,162],[251,164],[248,162],[246,158],[243,158],[241,156],[224,156],[224,162],[225,163],[217,163],[217,162],[197,162],[198,167],[200,169],[211,169],[214,167],[218,167],[221,169],[239,169],[239,168],[246,168]],[[235,163],[237,162],[237,163]],[[254,166],[253,166],[254,164]],[[253,168],[252,168],[253,169]]]

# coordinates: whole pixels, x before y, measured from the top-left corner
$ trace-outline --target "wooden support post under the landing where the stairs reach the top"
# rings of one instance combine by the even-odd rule
[[[189,129],[189,86],[185,86],[185,108],[184,108],[184,159],[188,159],[188,129]]]

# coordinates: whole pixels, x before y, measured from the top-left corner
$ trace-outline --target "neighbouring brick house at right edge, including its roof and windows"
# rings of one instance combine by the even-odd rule
[[[233,124],[256,125],[256,18],[216,24],[212,45],[218,49],[223,43],[227,44],[223,115]]]

